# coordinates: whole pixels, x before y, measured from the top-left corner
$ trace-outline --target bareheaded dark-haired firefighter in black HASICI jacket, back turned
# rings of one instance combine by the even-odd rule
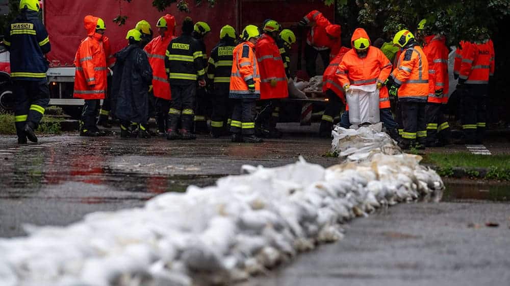
[[[183,33],[167,47],[165,68],[168,73],[172,102],[168,111],[167,139],[196,139],[193,128],[196,81],[203,87],[205,71],[200,44],[191,36],[193,21],[186,17]],[[181,130],[177,132],[177,128]]]

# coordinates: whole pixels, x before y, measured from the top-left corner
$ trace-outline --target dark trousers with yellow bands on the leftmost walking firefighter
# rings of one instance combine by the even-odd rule
[[[44,110],[49,104],[49,88],[47,81],[14,80],[13,93],[15,98],[14,125],[18,137],[24,137],[23,127],[27,122],[39,126]]]

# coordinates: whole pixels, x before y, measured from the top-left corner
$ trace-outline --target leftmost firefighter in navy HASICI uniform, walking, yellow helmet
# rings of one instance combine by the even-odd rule
[[[38,17],[39,1],[21,0],[19,11],[20,14],[7,26],[4,44],[10,52],[18,144],[26,144],[27,137],[37,142],[34,130],[49,104],[48,62],[44,54],[51,46],[48,32]]]

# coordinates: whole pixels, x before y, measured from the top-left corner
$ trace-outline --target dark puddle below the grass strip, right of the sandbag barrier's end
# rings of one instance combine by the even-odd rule
[[[446,179],[443,202],[493,201],[510,202],[510,183]]]

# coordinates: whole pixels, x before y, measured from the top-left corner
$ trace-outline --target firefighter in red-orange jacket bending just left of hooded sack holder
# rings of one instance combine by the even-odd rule
[[[319,136],[330,137],[333,122],[336,117],[340,117],[340,110],[345,106],[345,94],[342,85],[336,76],[338,65],[350,49],[341,47],[337,56],[331,60],[322,75],[322,92],[326,93],[326,108],[321,117]]]

